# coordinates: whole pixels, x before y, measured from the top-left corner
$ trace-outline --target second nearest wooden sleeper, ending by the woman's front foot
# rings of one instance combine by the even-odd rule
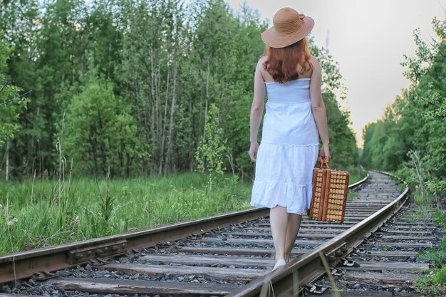
[[[180,276],[201,276],[219,278],[228,281],[251,281],[269,273],[269,269],[231,269],[203,266],[170,266],[170,265],[139,265],[139,264],[106,264],[108,271],[122,271],[124,273],[145,273],[154,276],[156,273],[170,273]]]

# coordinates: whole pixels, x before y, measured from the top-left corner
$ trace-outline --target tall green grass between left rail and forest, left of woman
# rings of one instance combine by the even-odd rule
[[[0,254],[247,209],[250,192],[237,177],[197,173],[0,182]]]

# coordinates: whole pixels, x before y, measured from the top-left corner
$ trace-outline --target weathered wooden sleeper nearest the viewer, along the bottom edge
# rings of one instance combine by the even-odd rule
[[[137,281],[108,278],[52,278],[46,281],[58,290],[114,294],[165,294],[169,296],[224,296],[237,286],[227,283],[190,283],[165,281]],[[1,296],[1,295],[0,295]],[[17,296],[17,295],[14,295]]]

